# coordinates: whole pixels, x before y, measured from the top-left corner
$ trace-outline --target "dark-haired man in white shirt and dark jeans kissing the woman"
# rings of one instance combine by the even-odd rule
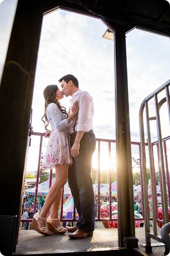
[[[63,94],[72,96],[71,106],[78,101],[79,112],[69,123],[71,154],[73,164],[69,167],[68,183],[79,214],[75,227],[66,227],[70,238],[81,239],[93,234],[95,224],[94,190],[91,179],[92,154],[96,139],[92,128],[94,107],[88,92],[79,89],[73,75],[65,75],[59,82]],[[69,113],[72,116],[72,111]]]

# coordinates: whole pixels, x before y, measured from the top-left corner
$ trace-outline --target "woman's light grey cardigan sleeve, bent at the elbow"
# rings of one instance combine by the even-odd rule
[[[50,114],[52,122],[54,123],[55,128],[58,131],[61,131],[69,126],[67,119],[61,120],[61,110],[57,107],[55,103],[51,103],[48,105],[48,112]]]

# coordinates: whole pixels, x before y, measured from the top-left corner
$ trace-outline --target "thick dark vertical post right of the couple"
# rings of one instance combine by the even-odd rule
[[[135,236],[125,27],[114,25],[118,246]]]

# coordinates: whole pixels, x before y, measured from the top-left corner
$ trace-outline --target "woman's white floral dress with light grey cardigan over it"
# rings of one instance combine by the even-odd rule
[[[66,127],[68,122],[65,117],[64,119],[61,119],[64,115],[60,110],[58,111],[56,104],[49,104],[46,111],[49,123],[51,124],[51,128],[58,126],[58,123],[60,123],[59,128],[63,128],[62,122],[64,123],[64,128],[62,130],[59,128],[59,130],[57,130],[57,128],[52,129],[46,148],[43,168],[52,169],[56,164],[71,165],[73,162],[72,156],[70,154],[70,136],[68,128]],[[55,123],[57,123],[57,125]]]

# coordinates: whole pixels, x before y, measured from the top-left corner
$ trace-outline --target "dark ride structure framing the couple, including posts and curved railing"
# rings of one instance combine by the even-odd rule
[[[7,4],[2,1],[0,8]],[[6,60],[3,63],[3,72],[0,84],[1,121],[1,169],[2,191],[6,198],[13,196],[13,206],[1,209],[0,230],[1,252],[4,255],[17,254],[16,245],[21,221],[24,182],[27,165],[27,152],[31,137],[31,105],[33,98],[34,80],[36,74],[37,57],[39,51],[40,34],[43,16],[57,9],[76,12],[98,18],[113,33],[115,49],[115,116],[116,116],[116,158],[117,158],[117,190],[118,190],[118,249],[115,255],[122,255],[128,251],[134,253],[138,247],[135,233],[134,205],[133,205],[133,177],[131,163],[130,115],[128,99],[126,33],[137,28],[160,36],[170,37],[170,5],[166,0],[18,0],[16,10],[13,9],[14,19],[10,30]],[[6,19],[4,20],[4,24]],[[162,196],[162,223],[169,228],[168,196],[170,198],[170,181],[168,164],[164,164],[164,141],[161,137],[159,110],[161,105],[167,104],[170,119],[170,80],[165,82],[149,95],[140,109],[140,146],[143,181],[143,208],[145,213],[146,253],[152,252],[151,238],[165,243],[166,253],[170,251],[170,241],[158,236],[157,232],[157,203],[153,197],[153,230],[149,227],[148,212],[148,184],[146,180],[146,152],[145,138],[143,136],[143,110],[146,111],[149,160],[152,180],[152,195],[155,195],[154,166],[152,162],[152,143],[149,122],[156,120],[158,131],[158,158],[160,166],[161,196]],[[158,89],[157,89],[158,88]],[[157,89],[157,90],[156,90]],[[165,90],[166,97],[158,102],[157,95]],[[154,117],[148,114],[148,101],[154,98],[156,113]],[[10,177],[10,178],[9,178]],[[160,208],[161,209],[161,208]],[[110,211],[110,209],[109,209]],[[113,211],[114,212],[114,211]],[[160,213],[161,214],[161,213]],[[110,223],[111,224],[111,223]],[[163,225],[163,226],[164,226]],[[166,226],[166,228],[167,228]],[[162,232],[163,234],[163,232]],[[165,233],[164,233],[165,234]],[[167,233],[166,233],[167,235]],[[169,234],[167,236],[169,239]],[[28,240],[28,237],[27,237]],[[169,241],[169,242],[167,242]],[[38,244],[38,242],[37,242]],[[60,242],[59,242],[60,246]],[[85,251],[82,255],[113,255],[112,248],[101,251]],[[41,253],[41,252],[39,252]],[[21,255],[22,253],[18,253]],[[26,252],[25,254],[36,255]],[[43,252],[43,254],[45,254]],[[53,254],[51,251],[47,253]],[[57,253],[56,253],[57,254]],[[79,255],[76,250],[64,254]],[[136,255],[142,255],[139,251]]]

